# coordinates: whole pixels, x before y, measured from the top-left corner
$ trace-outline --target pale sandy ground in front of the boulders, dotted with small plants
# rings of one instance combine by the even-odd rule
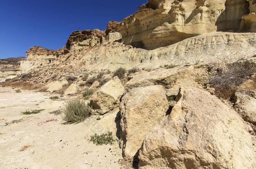
[[[120,169],[121,150],[114,145],[96,146],[89,141],[94,133],[116,132],[118,110],[97,120],[63,124],[62,115],[50,114],[63,108],[71,98],[52,101],[47,93],[0,87],[0,168],[29,169]],[[22,111],[44,109],[39,114]],[[41,126],[40,122],[50,121]],[[8,125],[5,126],[7,123]]]

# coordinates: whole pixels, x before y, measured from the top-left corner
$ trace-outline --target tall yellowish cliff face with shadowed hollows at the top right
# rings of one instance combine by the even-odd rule
[[[149,0],[118,29],[124,44],[152,50],[204,33],[239,31],[252,4],[247,0]]]

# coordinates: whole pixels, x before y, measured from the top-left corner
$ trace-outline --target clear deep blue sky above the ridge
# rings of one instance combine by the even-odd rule
[[[58,49],[73,30],[104,30],[147,0],[0,0],[0,58],[26,56],[34,45]]]

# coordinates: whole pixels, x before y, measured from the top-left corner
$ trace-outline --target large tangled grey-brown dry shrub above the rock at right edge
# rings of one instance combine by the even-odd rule
[[[256,64],[252,61],[238,61],[225,63],[217,68],[217,73],[210,83],[215,88],[215,94],[221,98],[229,99],[238,86],[256,73]]]

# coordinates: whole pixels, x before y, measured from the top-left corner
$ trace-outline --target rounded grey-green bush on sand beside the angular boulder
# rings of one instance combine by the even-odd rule
[[[79,123],[91,116],[91,108],[84,101],[74,99],[67,103],[63,113],[63,119],[68,123]]]

